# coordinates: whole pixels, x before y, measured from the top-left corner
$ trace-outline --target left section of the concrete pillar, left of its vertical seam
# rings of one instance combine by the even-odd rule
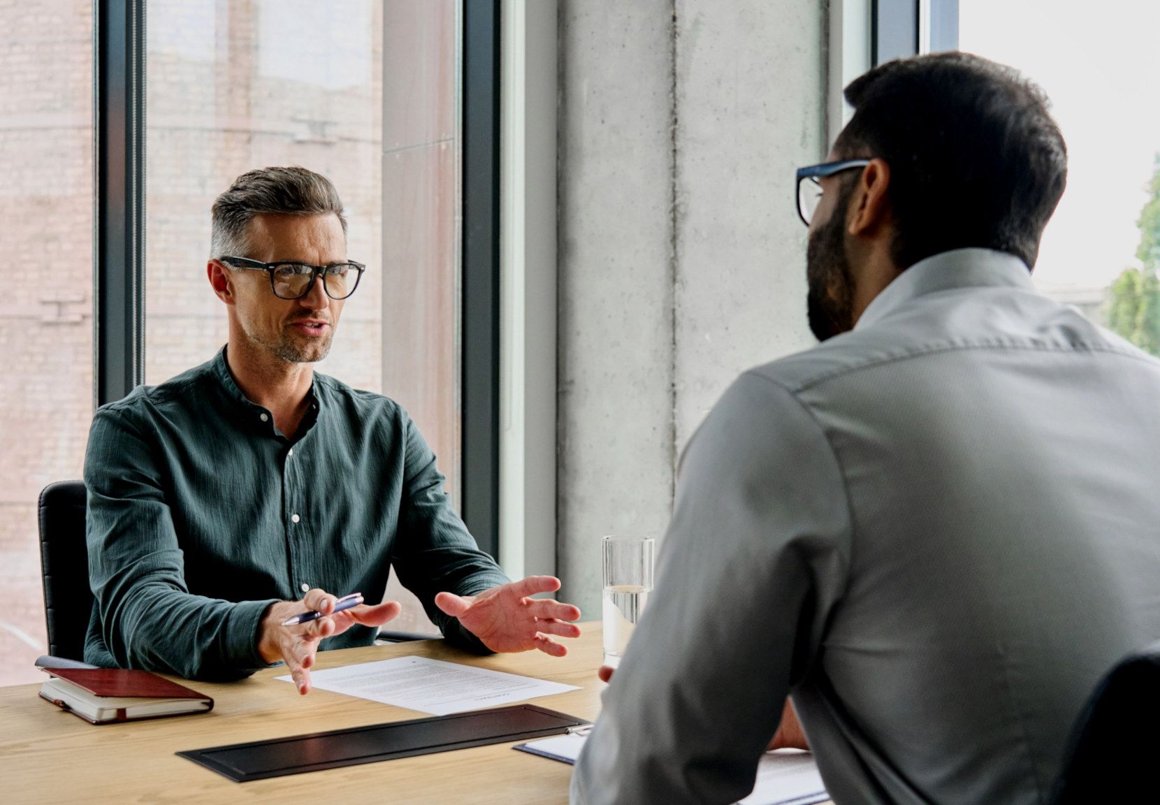
[[[673,500],[673,6],[559,7],[560,597],[600,617],[600,537]]]

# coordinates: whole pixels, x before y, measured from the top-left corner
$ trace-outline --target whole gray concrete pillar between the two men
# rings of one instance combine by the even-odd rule
[[[677,456],[745,369],[813,343],[793,169],[825,157],[826,3],[560,0],[561,599],[661,536]]]

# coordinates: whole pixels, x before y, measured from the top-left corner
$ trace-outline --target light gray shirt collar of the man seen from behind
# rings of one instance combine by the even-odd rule
[[[959,288],[1035,290],[1027,263],[1007,252],[958,248],[920,260],[894,277],[862,312],[854,329],[869,327],[908,302]]]

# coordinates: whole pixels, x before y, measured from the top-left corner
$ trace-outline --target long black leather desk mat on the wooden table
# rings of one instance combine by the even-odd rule
[[[396,757],[466,749],[558,735],[587,721],[532,704],[473,710],[451,716],[390,721],[249,744],[179,752],[195,763],[245,783],[283,775],[336,769]]]

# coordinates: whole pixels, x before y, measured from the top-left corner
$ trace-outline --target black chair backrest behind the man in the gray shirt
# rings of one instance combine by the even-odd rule
[[[1144,802],[1160,757],[1160,643],[1129,654],[1075,721],[1053,805]]]

